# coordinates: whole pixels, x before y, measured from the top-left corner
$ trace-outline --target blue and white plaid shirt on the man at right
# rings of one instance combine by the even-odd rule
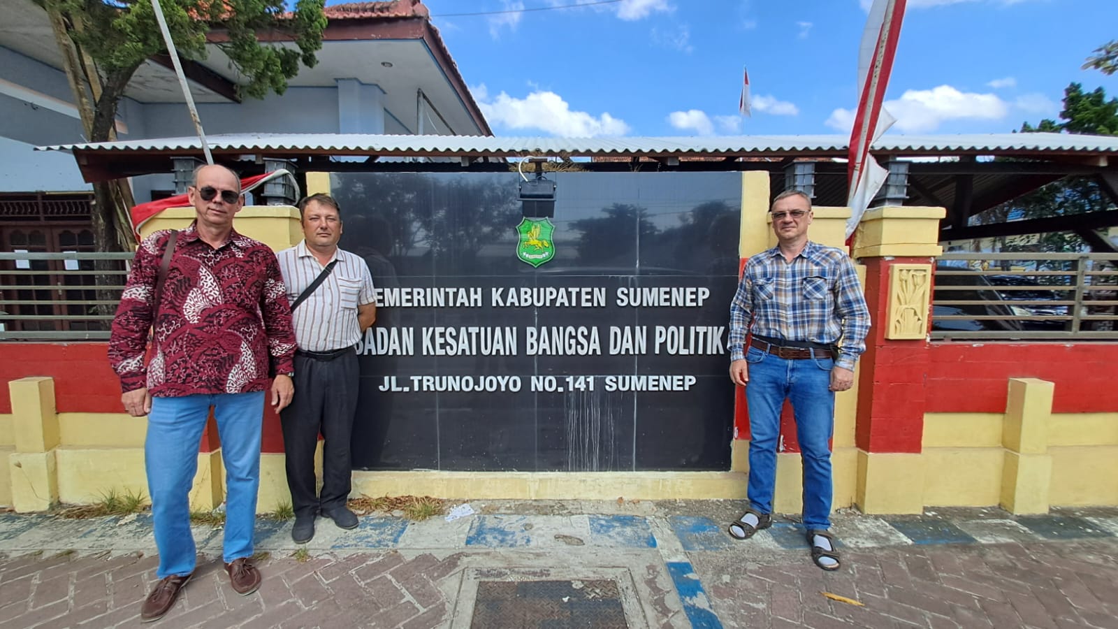
[[[839,346],[835,365],[853,369],[865,351],[870,309],[854,263],[842,250],[809,242],[792,262],[780,247],[746,262],[730,303],[730,359],[745,358],[746,335]]]

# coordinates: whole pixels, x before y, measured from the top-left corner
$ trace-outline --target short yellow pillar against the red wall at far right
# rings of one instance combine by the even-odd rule
[[[1052,485],[1048,425],[1055,385],[1036,378],[1010,378],[1002,429],[1002,507],[1012,514],[1046,514]]]

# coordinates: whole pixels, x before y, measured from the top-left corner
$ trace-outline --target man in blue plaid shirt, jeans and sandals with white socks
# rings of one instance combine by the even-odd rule
[[[854,384],[870,311],[854,263],[807,240],[812,203],[799,190],[769,210],[777,246],[746,263],[730,304],[730,378],[749,404],[749,508],[730,535],[751,537],[773,523],[776,447],[784,401],[792,402],[804,466],[804,527],[812,560],[840,567],[831,527],[831,449],[835,392]],[[746,338],[749,336],[749,345]]]

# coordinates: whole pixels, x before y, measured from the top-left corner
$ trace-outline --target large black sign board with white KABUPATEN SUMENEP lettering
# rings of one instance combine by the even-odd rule
[[[740,175],[548,177],[533,267],[515,172],[332,176],[379,301],[356,468],[729,469]]]

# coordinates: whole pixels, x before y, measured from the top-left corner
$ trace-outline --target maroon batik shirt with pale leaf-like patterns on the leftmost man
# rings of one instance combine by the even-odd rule
[[[155,396],[267,391],[293,370],[295,332],[280,264],[267,245],[236,231],[214,248],[195,225],[179,232],[144,366],[155,278],[170,232],[136,250],[113,319],[108,360],[125,393]],[[274,368],[274,369],[273,369]]]

